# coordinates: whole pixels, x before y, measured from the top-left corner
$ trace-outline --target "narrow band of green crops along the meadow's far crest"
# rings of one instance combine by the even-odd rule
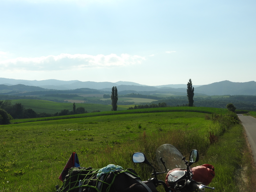
[[[84,113],[84,114],[77,114],[77,115],[65,115],[65,116],[46,117],[46,118],[15,119],[15,120],[12,120],[12,123],[73,119],[73,118],[84,118],[84,117],[102,116],[102,115],[154,113],[154,112],[178,112],[178,111],[199,112],[199,113],[209,113],[209,114],[213,114],[213,113],[224,114],[227,112],[227,109],[210,108],[210,107],[148,108],[148,109],[134,109],[134,110],[124,110],[124,111],[104,111],[104,112],[96,112],[96,113]]]

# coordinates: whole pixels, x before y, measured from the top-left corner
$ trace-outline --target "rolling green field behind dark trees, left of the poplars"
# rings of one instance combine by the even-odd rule
[[[54,114],[60,112],[63,109],[73,110],[73,103],[58,103],[52,101],[35,100],[35,99],[17,99],[11,100],[12,104],[21,103],[26,109],[33,109],[37,113],[49,113]],[[84,107],[88,112],[100,110],[100,111],[111,111],[112,106],[102,104],[91,104],[91,103],[77,103],[76,108]],[[126,110],[125,108],[119,108],[118,110]]]

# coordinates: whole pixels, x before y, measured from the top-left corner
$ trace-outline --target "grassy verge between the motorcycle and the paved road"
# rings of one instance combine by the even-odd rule
[[[216,191],[255,191],[253,159],[242,125],[235,125],[211,145],[202,159],[215,166],[215,178],[209,185]]]

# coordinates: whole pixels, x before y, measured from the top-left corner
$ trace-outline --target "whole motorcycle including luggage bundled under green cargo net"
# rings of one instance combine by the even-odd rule
[[[203,169],[206,169],[206,172],[202,172],[198,168],[196,170],[199,170],[199,174],[195,178],[199,178],[199,180],[193,177],[193,174],[196,176],[196,171],[195,167],[191,169],[190,165],[198,162],[199,153],[197,150],[191,151],[188,162],[173,145],[164,144],[157,148],[156,158],[161,172],[156,172],[154,166],[147,160],[144,153],[137,152],[132,155],[133,163],[145,163],[153,168],[153,177],[147,181],[141,181],[133,169],[123,169],[112,164],[101,169],[80,167],[77,154],[73,152],[59,176],[63,184],[60,188],[57,185],[56,189],[57,192],[156,192],[156,187],[159,185],[162,185],[166,192],[204,192],[206,188],[214,189],[206,186],[210,183],[209,181],[208,184],[203,182],[206,181],[204,178],[209,176],[206,175],[208,172],[206,167],[197,166],[204,167]],[[157,175],[164,174],[167,171],[169,173],[166,176],[165,182],[158,180]],[[214,170],[212,171],[214,173]]]

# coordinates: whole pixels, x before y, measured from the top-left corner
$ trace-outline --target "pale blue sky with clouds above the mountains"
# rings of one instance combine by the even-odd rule
[[[0,0],[0,77],[256,81],[256,1]]]

